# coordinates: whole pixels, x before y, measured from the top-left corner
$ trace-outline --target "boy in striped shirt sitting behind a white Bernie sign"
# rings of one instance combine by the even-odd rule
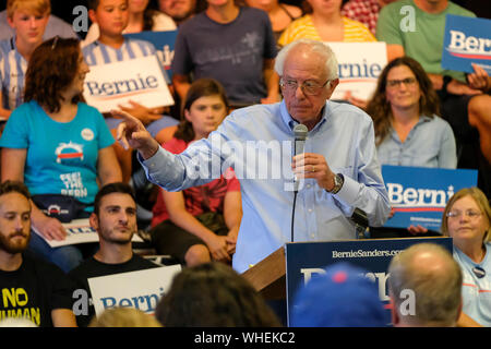
[[[108,64],[155,55],[155,47],[151,43],[123,36],[122,32],[129,20],[128,0],[89,0],[88,16],[99,26],[99,38],[82,49],[88,65]],[[165,77],[168,80],[167,76]],[[161,110],[146,108],[132,100],[129,103],[132,107],[120,106],[120,108],[139,118],[153,136],[161,129],[178,123],[170,117],[163,117]],[[111,117],[106,118],[113,134],[120,121]],[[131,152],[124,151],[119,144],[115,145],[115,151],[121,165],[123,182],[128,182],[131,174]]]

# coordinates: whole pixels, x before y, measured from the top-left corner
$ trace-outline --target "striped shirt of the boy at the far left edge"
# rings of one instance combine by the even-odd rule
[[[19,53],[15,37],[0,41],[0,83],[2,108],[13,110],[24,100],[27,61]]]

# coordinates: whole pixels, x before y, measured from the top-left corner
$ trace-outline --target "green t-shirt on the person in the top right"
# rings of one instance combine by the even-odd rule
[[[445,16],[455,14],[476,15],[448,1],[446,9],[431,14],[419,9],[412,0],[399,0],[382,9],[376,22],[376,39],[392,45],[402,45],[406,56],[416,59],[427,73],[450,75],[465,82],[463,72],[442,68]]]

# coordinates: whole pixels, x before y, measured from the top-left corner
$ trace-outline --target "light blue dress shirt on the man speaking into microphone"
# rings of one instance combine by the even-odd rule
[[[167,191],[201,185],[233,167],[241,185],[243,217],[232,263],[242,273],[290,241],[296,124],[285,101],[242,108],[182,154],[159,148],[153,157],[140,159],[148,179]],[[388,198],[367,113],[326,101],[321,121],[308,134],[304,152],[323,155],[334,172],[344,174],[345,182],[335,195],[314,179],[300,182],[295,241],[356,239],[349,220],[356,207],[367,213],[372,226],[386,220]]]

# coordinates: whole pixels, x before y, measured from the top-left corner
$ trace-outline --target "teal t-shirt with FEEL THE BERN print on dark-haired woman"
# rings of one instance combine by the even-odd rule
[[[79,103],[70,122],[52,120],[36,101],[10,116],[0,147],[26,149],[24,183],[32,195],[62,194],[92,204],[98,151],[115,143],[100,112]]]

